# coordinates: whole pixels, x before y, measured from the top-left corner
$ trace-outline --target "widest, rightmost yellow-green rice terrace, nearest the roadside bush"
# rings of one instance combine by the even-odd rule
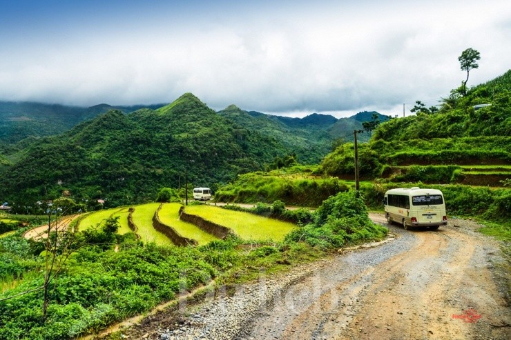
[[[235,234],[245,240],[283,241],[286,234],[298,228],[293,223],[213,206],[187,206],[185,211],[220,226],[231,228]]]

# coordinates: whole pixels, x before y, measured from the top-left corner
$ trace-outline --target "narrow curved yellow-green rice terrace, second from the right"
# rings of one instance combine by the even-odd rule
[[[180,234],[182,237],[187,237],[189,239],[195,239],[199,243],[199,246],[203,246],[206,243],[211,241],[218,240],[212,234],[208,234],[197,228],[191,223],[187,223],[180,220],[179,210],[181,208],[180,203],[165,203],[160,209],[160,213],[158,216],[160,217],[160,221],[166,224],[167,226],[171,226]]]

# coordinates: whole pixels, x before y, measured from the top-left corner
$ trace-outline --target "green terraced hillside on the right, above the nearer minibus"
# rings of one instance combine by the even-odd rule
[[[452,90],[438,112],[381,123],[359,154],[365,179],[502,186],[511,178],[505,167],[511,163],[511,70],[465,96]],[[353,143],[327,155],[320,170],[352,179]]]

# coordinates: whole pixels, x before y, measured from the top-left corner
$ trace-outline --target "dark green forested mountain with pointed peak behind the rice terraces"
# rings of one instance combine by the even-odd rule
[[[12,155],[0,168],[0,197],[33,204],[61,196],[108,206],[152,200],[162,186],[210,186],[262,169],[287,150],[208,108],[193,94],[157,110],[110,110]]]

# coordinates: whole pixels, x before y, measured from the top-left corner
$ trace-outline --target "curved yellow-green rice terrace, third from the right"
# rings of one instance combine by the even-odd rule
[[[147,203],[135,206],[133,223],[137,226],[137,234],[144,243],[156,243],[158,246],[170,246],[172,241],[153,227],[153,215],[160,203]]]

